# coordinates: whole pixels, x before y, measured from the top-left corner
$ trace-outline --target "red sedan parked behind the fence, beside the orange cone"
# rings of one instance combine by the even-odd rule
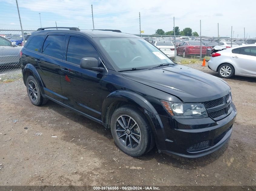
[[[202,46],[202,56],[206,55],[207,47]],[[200,41],[185,41],[177,47],[177,55],[200,56]]]

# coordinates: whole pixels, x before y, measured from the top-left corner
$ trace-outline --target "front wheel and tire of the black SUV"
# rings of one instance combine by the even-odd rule
[[[124,153],[138,157],[152,148],[151,127],[134,106],[122,106],[111,117],[111,133],[116,145]]]

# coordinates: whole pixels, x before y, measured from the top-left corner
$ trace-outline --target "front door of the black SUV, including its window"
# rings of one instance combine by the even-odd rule
[[[101,79],[103,74],[80,68],[82,58],[93,57],[101,63],[99,54],[85,37],[69,35],[65,62],[61,65],[61,86],[64,103],[96,119],[101,119]]]

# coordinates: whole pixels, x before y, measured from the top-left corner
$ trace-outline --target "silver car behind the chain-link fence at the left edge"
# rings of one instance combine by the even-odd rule
[[[0,66],[19,64],[21,49],[15,42],[0,37]]]

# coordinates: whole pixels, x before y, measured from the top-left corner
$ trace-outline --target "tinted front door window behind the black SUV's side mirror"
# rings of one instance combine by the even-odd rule
[[[70,37],[66,60],[80,65],[81,59],[86,57],[99,58],[97,51],[87,39]]]

